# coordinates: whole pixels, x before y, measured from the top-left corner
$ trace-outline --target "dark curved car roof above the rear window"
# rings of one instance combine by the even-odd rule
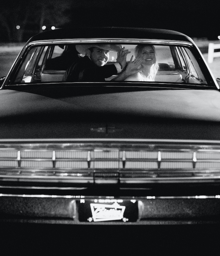
[[[79,39],[79,38],[126,38],[181,40],[193,43],[187,35],[168,29],[128,27],[72,27],[41,32],[27,43],[36,40]]]

